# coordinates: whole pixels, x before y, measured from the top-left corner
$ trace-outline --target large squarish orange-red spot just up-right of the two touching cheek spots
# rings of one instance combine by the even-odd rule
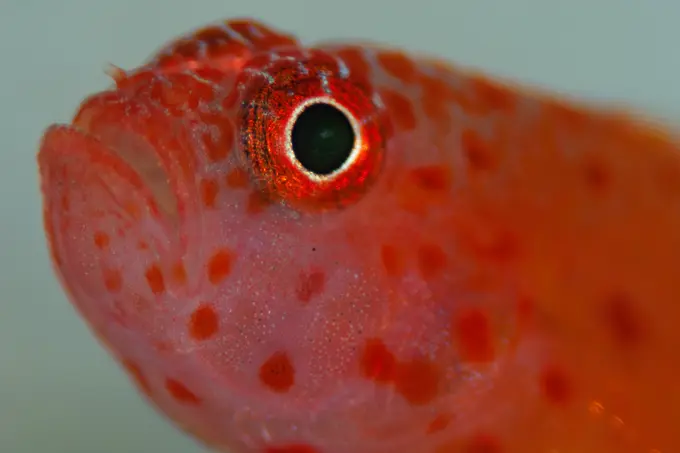
[[[467,362],[489,362],[494,359],[489,318],[477,308],[469,308],[454,317],[451,332],[460,355]]]

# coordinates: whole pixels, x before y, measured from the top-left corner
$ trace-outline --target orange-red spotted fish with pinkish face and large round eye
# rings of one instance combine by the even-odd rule
[[[46,242],[159,416],[231,453],[680,451],[680,141],[254,18],[49,126]]]

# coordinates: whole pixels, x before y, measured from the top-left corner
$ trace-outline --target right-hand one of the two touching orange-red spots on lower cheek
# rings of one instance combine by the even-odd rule
[[[397,365],[397,392],[413,405],[430,403],[439,392],[440,372],[430,360],[416,358]]]

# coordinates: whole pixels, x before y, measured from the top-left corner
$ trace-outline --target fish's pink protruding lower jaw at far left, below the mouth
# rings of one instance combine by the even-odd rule
[[[173,282],[167,227],[151,190],[116,153],[73,128],[39,152],[52,256],[73,304],[106,342],[110,325],[144,332]],[[115,329],[114,329],[115,330]]]

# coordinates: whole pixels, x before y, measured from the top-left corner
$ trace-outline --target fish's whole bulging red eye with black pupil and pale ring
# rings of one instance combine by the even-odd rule
[[[378,93],[322,51],[250,70],[241,161],[260,191],[298,211],[346,208],[377,181],[392,131]],[[258,63],[260,64],[260,63]]]

